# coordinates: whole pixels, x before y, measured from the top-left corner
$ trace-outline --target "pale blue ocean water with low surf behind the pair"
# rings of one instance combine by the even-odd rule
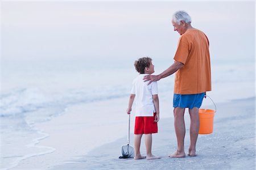
[[[65,114],[76,104],[127,97],[137,76],[137,58],[2,59],[1,63],[1,169],[55,148],[37,146],[49,134],[35,125]],[[172,64],[170,58],[153,58],[155,74]],[[252,97],[254,58],[212,58],[212,92],[215,103]],[[159,97],[172,92],[174,76],[159,81]],[[206,100],[203,107],[212,105]],[[119,138],[117,136],[117,138]]]

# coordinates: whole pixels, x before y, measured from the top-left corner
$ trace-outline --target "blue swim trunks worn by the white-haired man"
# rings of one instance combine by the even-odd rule
[[[179,95],[174,94],[174,108],[189,108],[193,109],[194,107],[200,108],[204,99],[204,92],[201,94],[193,95]]]

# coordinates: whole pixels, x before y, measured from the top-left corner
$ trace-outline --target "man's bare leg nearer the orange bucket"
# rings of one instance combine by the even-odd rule
[[[189,156],[196,156],[196,141],[199,132],[199,108],[194,107],[193,109],[189,109],[190,115],[190,146],[188,150]]]

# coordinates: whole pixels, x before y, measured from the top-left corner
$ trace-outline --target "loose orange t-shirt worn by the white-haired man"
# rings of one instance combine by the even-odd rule
[[[181,35],[174,59],[184,64],[176,71],[174,94],[200,94],[212,90],[209,41],[202,31],[188,29]]]

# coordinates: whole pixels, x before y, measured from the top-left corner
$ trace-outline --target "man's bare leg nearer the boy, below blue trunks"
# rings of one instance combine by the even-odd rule
[[[184,122],[185,108],[174,108],[174,128],[177,137],[177,151],[169,155],[173,158],[185,157],[184,138],[185,138],[185,122]]]

